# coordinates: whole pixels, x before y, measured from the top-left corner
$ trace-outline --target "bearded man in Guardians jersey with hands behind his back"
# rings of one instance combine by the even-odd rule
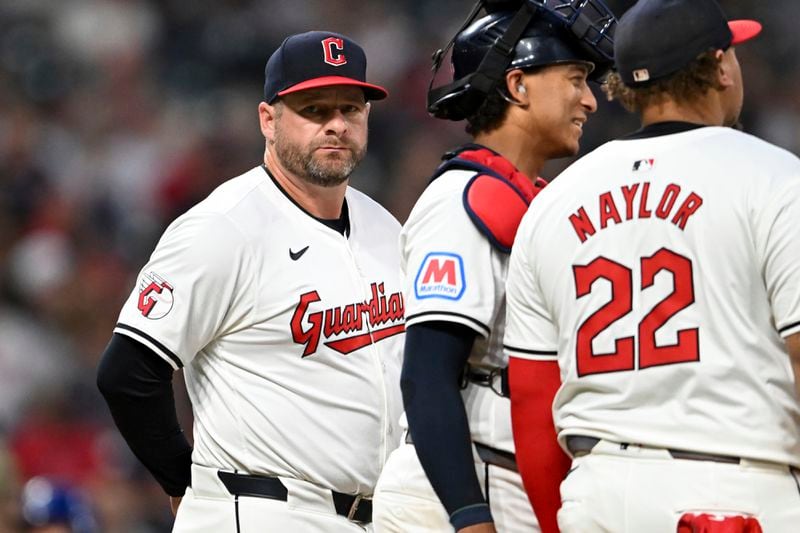
[[[372,529],[400,440],[404,323],[399,224],[348,187],[369,100],[387,95],[365,72],[343,35],[283,41],[258,107],[264,164],[167,228],[120,313],[98,383],[179,504],[174,531]],[[175,419],[180,368],[194,449]]]

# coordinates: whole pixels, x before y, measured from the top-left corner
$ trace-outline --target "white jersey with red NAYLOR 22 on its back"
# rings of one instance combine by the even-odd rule
[[[800,465],[800,161],[727,128],[612,141],[534,200],[512,356],[556,360],[559,436]]]

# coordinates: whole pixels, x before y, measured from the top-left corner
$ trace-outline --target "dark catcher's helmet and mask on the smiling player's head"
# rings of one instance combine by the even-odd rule
[[[481,9],[487,15],[475,20]],[[603,0],[478,0],[461,29],[433,55],[428,112],[448,120],[471,116],[515,68],[591,63],[590,79],[598,80],[614,63],[616,24]],[[451,47],[453,82],[434,88]]]

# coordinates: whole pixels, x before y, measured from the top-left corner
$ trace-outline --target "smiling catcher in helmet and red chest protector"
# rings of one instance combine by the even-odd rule
[[[429,94],[429,110],[465,118],[474,142],[445,156],[400,236],[408,436],[376,488],[377,532],[538,531],[502,378],[508,253],[542,165],[578,151],[597,106],[587,78],[605,70],[615,19],[598,2],[576,13],[601,13],[588,20],[603,40],[588,42],[539,2],[518,4],[462,28],[455,81]]]

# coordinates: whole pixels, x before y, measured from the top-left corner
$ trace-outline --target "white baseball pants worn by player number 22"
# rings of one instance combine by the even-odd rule
[[[755,517],[765,533],[800,531],[800,480],[787,465],[673,453],[600,440],[576,457],[561,484],[561,533],[676,533],[687,513]]]

